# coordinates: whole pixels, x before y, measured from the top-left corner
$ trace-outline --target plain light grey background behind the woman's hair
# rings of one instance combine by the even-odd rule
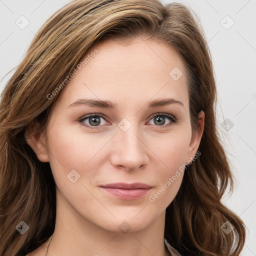
[[[0,79],[20,62],[46,19],[68,2],[0,0]],[[256,1],[176,2],[186,4],[199,15],[213,56],[218,90],[218,129],[236,178],[233,194],[226,194],[223,202],[247,225],[247,239],[241,255],[256,255]],[[29,21],[24,29],[15,23],[16,20],[21,23],[22,15]],[[234,24],[229,27],[232,22]],[[9,77],[10,74],[1,80],[0,91]],[[231,127],[225,122],[229,130],[221,125],[226,118],[233,123]]]

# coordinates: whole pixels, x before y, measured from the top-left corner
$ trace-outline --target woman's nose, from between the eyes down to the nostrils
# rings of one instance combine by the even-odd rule
[[[135,125],[126,131],[118,128],[111,142],[111,164],[124,170],[145,167],[149,162],[149,149],[143,140]]]

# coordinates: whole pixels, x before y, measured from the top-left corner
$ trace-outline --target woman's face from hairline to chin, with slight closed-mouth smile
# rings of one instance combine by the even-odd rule
[[[110,231],[163,219],[202,133],[192,136],[180,57],[151,40],[106,40],[76,71],[58,92],[46,140],[37,144],[60,190],[57,210]],[[103,188],[136,182],[149,188]]]

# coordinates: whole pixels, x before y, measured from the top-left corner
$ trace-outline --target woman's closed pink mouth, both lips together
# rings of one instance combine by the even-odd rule
[[[147,194],[152,186],[144,183],[112,183],[100,185],[107,193],[123,200],[135,200]]]

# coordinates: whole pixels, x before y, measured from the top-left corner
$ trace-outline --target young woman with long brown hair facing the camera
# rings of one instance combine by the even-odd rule
[[[0,101],[0,255],[239,255],[210,53],[190,10],[74,0]]]

